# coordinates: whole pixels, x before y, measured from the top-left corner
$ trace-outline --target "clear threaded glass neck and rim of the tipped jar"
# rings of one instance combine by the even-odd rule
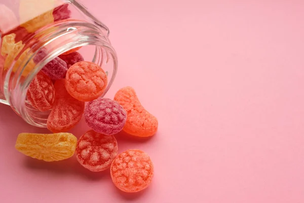
[[[77,20],[57,22],[37,30],[24,44],[7,70],[4,94],[13,110],[31,125],[46,127],[50,111],[40,112],[28,103],[29,84],[47,63],[62,53],[82,47],[80,53],[84,52],[85,61],[102,67],[109,79],[102,96],[116,77],[117,54],[102,28],[94,24]]]

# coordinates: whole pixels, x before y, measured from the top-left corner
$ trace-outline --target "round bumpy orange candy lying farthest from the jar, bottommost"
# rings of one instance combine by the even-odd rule
[[[110,173],[116,187],[125,192],[138,192],[151,183],[154,166],[146,153],[129,149],[113,160]]]

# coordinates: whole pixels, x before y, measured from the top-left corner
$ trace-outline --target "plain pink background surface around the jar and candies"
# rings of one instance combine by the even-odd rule
[[[99,6],[96,4],[99,2]],[[87,1],[110,28],[119,72],[159,119],[139,148],[154,182],[125,194],[74,158],[45,163],[14,149],[25,124],[1,105],[1,202],[304,202],[304,2]],[[82,123],[71,130],[79,137]]]

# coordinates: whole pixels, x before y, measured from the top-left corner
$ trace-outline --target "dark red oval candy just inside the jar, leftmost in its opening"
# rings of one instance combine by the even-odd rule
[[[55,88],[52,80],[39,72],[32,80],[26,93],[27,100],[36,109],[48,111],[53,108]]]

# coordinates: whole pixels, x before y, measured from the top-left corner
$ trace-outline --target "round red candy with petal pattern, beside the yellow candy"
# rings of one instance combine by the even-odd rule
[[[76,158],[92,172],[104,171],[117,156],[118,146],[115,137],[89,130],[77,142]]]

